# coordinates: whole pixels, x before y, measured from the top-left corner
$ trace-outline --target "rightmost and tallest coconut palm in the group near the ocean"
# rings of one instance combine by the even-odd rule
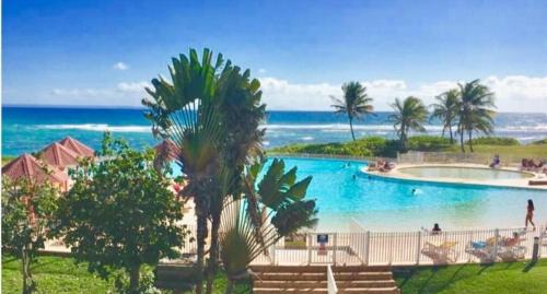
[[[493,131],[492,108],[494,105],[494,94],[488,86],[480,84],[480,80],[474,80],[459,86],[459,109],[458,109],[458,133],[462,152],[464,148],[464,133],[468,134],[469,150],[473,152],[473,132],[484,132],[486,134]]]

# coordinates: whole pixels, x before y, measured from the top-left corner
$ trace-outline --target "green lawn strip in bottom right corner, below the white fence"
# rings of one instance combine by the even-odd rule
[[[403,293],[546,293],[547,259],[491,266],[422,267],[395,273]]]

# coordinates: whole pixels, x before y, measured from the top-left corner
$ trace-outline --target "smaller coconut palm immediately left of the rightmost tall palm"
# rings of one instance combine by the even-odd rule
[[[442,137],[447,130],[450,133],[450,143],[454,143],[452,126],[455,125],[459,106],[459,91],[457,89],[449,90],[435,97],[439,103],[432,104],[433,113],[431,118],[441,119],[443,122]]]

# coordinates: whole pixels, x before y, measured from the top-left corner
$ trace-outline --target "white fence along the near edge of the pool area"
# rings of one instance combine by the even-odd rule
[[[496,262],[531,259],[534,238],[538,257],[547,257],[546,227],[430,232],[370,232],[354,224],[350,233],[306,233],[300,246],[270,247],[253,263],[281,266],[365,264],[414,266]],[[318,243],[325,238],[326,243]]]

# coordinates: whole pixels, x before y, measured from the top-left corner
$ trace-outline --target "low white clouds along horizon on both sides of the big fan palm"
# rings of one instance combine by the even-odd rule
[[[341,96],[340,84],[335,83],[291,83],[277,78],[260,78],[263,99],[270,110],[331,110],[329,96]],[[410,84],[404,80],[362,81],[369,96],[373,97],[376,110],[391,110],[389,104],[396,97],[414,95],[429,105],[440,93],[457,86],[463,81],[437,81]],[[547,77],[487,77],[482,83],[496,93],[496,104],[500,111],[547,113]],[[139,106],[146,97],[148,82],[121,82],[106,89],[55,89],[50,102],[61,105],[110,105]],[[91,103],[90,103],[91,102]]]

